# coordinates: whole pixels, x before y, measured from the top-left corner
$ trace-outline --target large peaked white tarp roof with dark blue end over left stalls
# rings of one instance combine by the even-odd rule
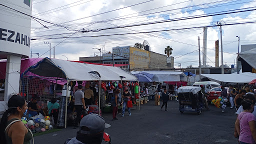
[[[85,64],[60,59],[49,59],[47,57],[38,61],[37,64],[28,67],[24,74],[30,71],[44,77],[58,77],[69,80],[121,80],[119,75],[128,75],[127,72],[112,71],[106,66]],[[123,73],[123,74],[122,74]],[[130,74],[132,75],[132,74]]]

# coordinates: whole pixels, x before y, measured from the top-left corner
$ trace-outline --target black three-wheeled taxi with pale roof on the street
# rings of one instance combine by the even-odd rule
[[[184,111],[197,112],[197,114],[201,113],[204,105],[201,87],[182,86],[178,88],[177,92],[180,113]]]

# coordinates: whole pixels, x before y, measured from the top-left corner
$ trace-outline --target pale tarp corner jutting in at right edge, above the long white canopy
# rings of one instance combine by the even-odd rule
[[[238,57],[241,57],[246,61],[251,67],[256,69],[256,48],[238,53]]]

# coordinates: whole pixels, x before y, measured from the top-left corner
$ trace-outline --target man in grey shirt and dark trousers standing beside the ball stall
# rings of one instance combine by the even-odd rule
[[[84,103],[84,94],[82,92],[82,85],[78,85],[78,90],[74,92],[73,95],[74,98],[74,107],[76,111],[76,118],[75,118],[75,126],[78,127],[78,122],[80,121],[81,118],[81,112],[82,108],[86,109],[85,103]]]

